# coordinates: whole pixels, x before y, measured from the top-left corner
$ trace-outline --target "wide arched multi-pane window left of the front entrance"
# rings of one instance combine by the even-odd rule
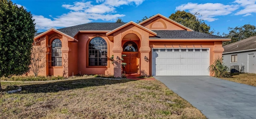
[[[89,43],[89,66],[107,66],[108,46],[102,37],[95,37]]]

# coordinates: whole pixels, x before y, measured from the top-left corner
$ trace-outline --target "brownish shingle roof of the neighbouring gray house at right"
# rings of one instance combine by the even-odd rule
[[[224,53],[256,49],[256,36],[223,46]]]

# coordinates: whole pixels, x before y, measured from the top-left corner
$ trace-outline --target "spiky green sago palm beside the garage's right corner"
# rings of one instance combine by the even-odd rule
[[[223,64],[223,58],[218,57],[214,60],[213,64],[208,67],[208,70],[214,73],[214,77],[218,78],[226,78],[230,77],[230,73],[228,73],[228,66]]]

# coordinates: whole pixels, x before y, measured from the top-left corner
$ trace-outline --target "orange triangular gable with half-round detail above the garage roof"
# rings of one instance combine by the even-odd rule
[[[192,29],[174,21],[161,14],[156,14],[151,18],[142,21],[139,23],[140,25],[152,29],[152,30],[186,30],[186,31],[193,31]]]

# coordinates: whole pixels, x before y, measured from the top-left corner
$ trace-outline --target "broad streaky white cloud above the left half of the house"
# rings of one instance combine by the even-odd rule
[[[45,18],[41,15],[33,15],[38,31],[47,30],[52,27],[69,27],[93,20],[114,21],[125,16],[116,13],[116,8],[122,5],[140,5],[144,0],[96,0],[93,2],[74,2],[73,4],[63,4],[62,7],[70,10],[61,16]]]

